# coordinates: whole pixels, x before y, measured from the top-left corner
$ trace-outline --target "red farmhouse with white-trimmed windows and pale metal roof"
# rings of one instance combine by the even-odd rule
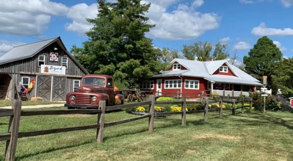
[[[196,61],[174,59],[171,68],[154,75],[146,83],[140,84],[141,90],[156,91],[159,95],[180,93],[183,97],[198,97],[194,95],[202,91],[205,94],[248,96],[248,91],[255,91],[255,86],[261,86],[259,80],[231,65],[227,60]],[[170,95],[169,95],[170,96]]]

